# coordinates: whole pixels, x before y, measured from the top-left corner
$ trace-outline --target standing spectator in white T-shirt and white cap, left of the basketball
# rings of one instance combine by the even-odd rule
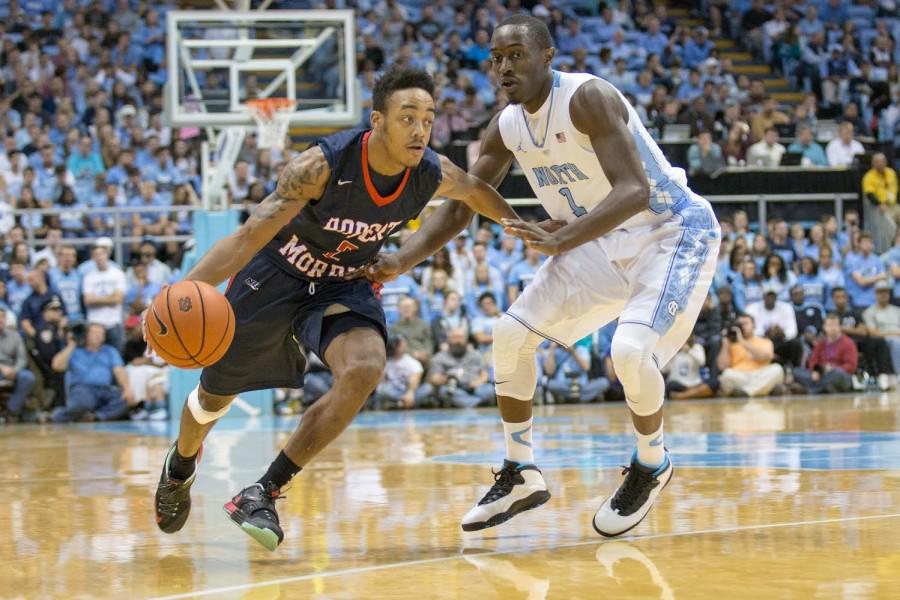
[[[125,343],[122,301],[128,285],[122,269],[109,261],[109,251],[105,246],[94,246],[91,258],[96,269],[84,276],[82,282],[84,306],[87,319],[106,330],[105,340],[113,348],[121,351]]]

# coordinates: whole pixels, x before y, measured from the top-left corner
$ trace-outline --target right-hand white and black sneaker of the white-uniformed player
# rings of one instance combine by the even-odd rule
[[[637,453],[632,455],[631,466],[622,471],[625,481],[594,515],[594,530],[602,536],[615,537],[635,527],[650,512],[656,497],[672,479],[673,471],[668,452],[663,464],[655,469],[639,463]]]

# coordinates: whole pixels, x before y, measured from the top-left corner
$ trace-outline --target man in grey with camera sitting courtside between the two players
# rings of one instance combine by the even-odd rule
[[[426,383],[416,391],[417,406],[435,403],[457,408],[474,408],[494,398],[494,385],[481,363],[481,355],[471,348],[466,330],[454,327],[447,332],[447,350],[431,358]]]

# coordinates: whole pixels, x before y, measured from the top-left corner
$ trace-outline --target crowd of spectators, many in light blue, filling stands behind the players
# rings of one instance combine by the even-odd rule
[[[729,165],[777,166],[791,155],[809,167],[849,165],[861,154],[871,160],[863,216],[872,235],[853,211],[842,215],[840,231],[834,217],[790,226],[775,220],[752,231],[740,212],[723,219],[728,235],[713,293],[695,336],[667,369],[676,398],[843,389],[848,381],[860,388],[863,373],[882,388],[892,384],[900,366],[900,322],[891,304],[900,297],[900,209],[889,157],[900,155],[891,152],[900,140],[900,23],[891,4],[700,0],[705,26],[683,25],[666,3],[645,0],[596,9],[552,0],[326,0],[290,8],[356,9],[364,123],[385,65],[434,74],[432,145],[439,151],[461,142],[469,157],[477,155],[479,132],[505,104],[493,85],[490,34],[504,17],[528,11],[550,26],[555,68],[609,79],[661,139],[677,130],[672,126],[686,127],[696,140],[685,165],[694,175]],[[4,418],[168,417],[168,368],[147,354],[138,315],[180,276],[182,240],[198,204],[202,135],[163,121],[171,8],[135,0],[0,0]],[[735,40],[806,91],[803,101],[779,103],[762,78],[738,73],[713,41],[720,38]],[[836,129],[825,126],[832,120]],[[873,143],[887,155],[869,154]],[[228,182],[232,201],[261,201],[293,153],[258,149],[249,136]],[[113,256],[116,225],[134,241]],[[542,261],[483,226],[386,286],[390,360],[373,406],[492,402],[492,325]],[[831,313],[840,333],[829,329]],[[572,348],[542,347],[539,396],[621,397],[609,358],[614,328]],[[847,339],[858,349],[858,366]],[[835,369],[849,379],[831,374]],[[301,395],[314,401],[328,377],[313,364],[305,389],[281,391],[281,404]]]

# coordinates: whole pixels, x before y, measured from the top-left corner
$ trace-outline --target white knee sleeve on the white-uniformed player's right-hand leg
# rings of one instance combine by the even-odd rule
[[[656,413],[663,404],[664,382],[653,350],[659,335],[645,325],[623,323],[612,340],[616,376],[625,388],[628,406],[639,416]]]

